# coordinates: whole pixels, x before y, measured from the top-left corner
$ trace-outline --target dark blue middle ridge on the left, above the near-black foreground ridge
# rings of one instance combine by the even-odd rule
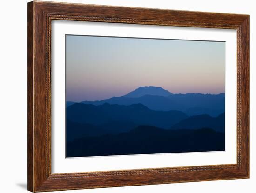
[[[92,104],[75,103],[66,110],[68,120],[76,123],[87,123],[101,126],[112,122],[132,122],[135,125],[149,125],[170,128],[175,123],[188,118],[181,111],[154,111],[142,104],[111,105],[104,103]]]

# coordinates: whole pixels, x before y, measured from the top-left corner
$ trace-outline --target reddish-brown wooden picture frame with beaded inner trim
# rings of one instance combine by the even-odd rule
[[[51,173],[51,21],[237,30],[237,164]],[[28,3],[28,190],[32,192],[249,178],[249,15]]]

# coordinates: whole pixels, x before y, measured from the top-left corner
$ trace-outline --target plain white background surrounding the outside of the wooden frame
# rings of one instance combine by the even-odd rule
[[[166,185],[76,190],[74,193],[254,193],[256,189],[256,6],[254,0],[61,0],[88,4],[250,14],[251,178]],[[27,0],[1,1],[0,12],[0,192],[27,191]],[[71,191],[67,191],[71,192]]]

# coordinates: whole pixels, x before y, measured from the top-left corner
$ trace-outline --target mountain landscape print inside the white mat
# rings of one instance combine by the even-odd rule
[[[225,150],[225,42],[66,35],[66,157]]]

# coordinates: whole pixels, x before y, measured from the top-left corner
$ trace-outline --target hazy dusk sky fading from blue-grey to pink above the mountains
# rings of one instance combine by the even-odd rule
[[[103,100],[137,87],[224,93],[225,43],[66,36],[66,100]]]

